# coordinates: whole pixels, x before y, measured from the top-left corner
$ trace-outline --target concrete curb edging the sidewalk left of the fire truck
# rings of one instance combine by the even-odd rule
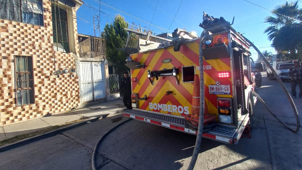
[[[124,110],[127,110],[127,108],[115,110],[112,113],[108,114],[106,117],[114,116],[117,113],[123,112]],[[14,143],[10,143],[10,144],[1,146],[0,147],[0,152],[5,152],[5,151],[8,151],[10,149],[18,148],[20,146],[24,146],[24,145],[27,145],[27,144],[32,143],[32,142],[36,142],[36,141],[39,141],[39,140],[42,140],[42,139],[46,139],[46,138],[49,138],[49,137],[52,137],[52,136],[56,136],[57,134],[60,134],[64,131],[66,131],[66,130],[70,130],[70,129],[82,126],[84,124],[87,124],[88,122],[89,123],[90,122],[95,122],[95,121],[99,120],[100,118],[103,119],[103,116],[105,116],[105,115],[93,117],[93,118],[90,118],[90,119],[87,119],[87,120],[83,120],[82,122],[79,122],[79,123],[74,123],[74,124],[67,125],[65,127],[62,127],[62,128],[50,131],[50,132],[43,133],[41,135],[37,135],[37,136],[30,137],[30,138],[22,139],[20,141],[14,142]]]

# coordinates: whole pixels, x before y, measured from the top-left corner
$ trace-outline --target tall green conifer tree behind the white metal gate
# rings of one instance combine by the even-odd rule
[[[106,41],[106,57],[114,64],[115,74],[121,74],[124,70],[129,70],[125,65],[127,53],[120,51],[125,47],[127,41],[127,31],[129,24],[120,14],[115,15],[112,23],[107,23],[104,27],[103,37]]]

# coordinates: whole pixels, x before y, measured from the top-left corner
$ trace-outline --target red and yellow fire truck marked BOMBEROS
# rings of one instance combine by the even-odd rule
[[[232,24],[204,12],[200,37],[179,28],[172,37],[125,28],[128,39],[122,50],[133,53],[126,59],[133,109],[123,116],[196,135],[203,107],[202,136],[238,143],[252,127],[257,98],[252,93],[251,44]],[[130,45],[133,42],[136,45]],[[199,65],[201,51],[203,65]],[[203,69],[203,77],[199,69]],[[204,106],[200,106],[201,89]]]

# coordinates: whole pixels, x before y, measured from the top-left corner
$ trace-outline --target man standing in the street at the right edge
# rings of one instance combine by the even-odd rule
[[[291,77],[291,95],[296,98],[297,84],[300,89],[299,97],[302,99],[302,66],[300,61],[294,61],[294,66],[289,69],[289,77]]]

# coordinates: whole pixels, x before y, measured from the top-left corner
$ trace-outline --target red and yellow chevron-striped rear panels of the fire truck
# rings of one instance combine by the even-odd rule
[[[221,35],[224,37],[226,45],[228,45],[228,34],[223,33],[216,36]],[[135,62],[145,63],[146,65],[144,69],[131,70],[131,77],[137,77],[137,82],[132,83],[132,92],[138,93],[139,98],[144,95],[147,96],[147,100],[139,101],[139,109],[178,116],[190,114],[193,83],[182,83],[182,67],[194,65],[196,74],[199,74],[199,68],[204,69],[204,95],[208,111],[210,114],[218,114],[217,97],[232,97],[231,79],[218,79],[217,76],[219,71],[231,71],[230,58],[203,60],[203,67],[199,67],[199,41],[200,39],[182,44],[180,51],[177,52],[173,50],[173,47],[169,47],[132,56]],[[162,60],[164,59],[172,60],[170,63],[163,63]],[[175,77],[172,76],[159,77],[158,80],[154,79],[154,85],[150,83],[147,70],[157,71],[172,69],[172,67],[176,67],[180,71],[178,74],[179,85],[176,85]],[[209,93],[209,85],[215,84],[217,80],[221,84],[230,85],[229,95]],[[172,91],[173,93],[166,95],[167,91]]]

